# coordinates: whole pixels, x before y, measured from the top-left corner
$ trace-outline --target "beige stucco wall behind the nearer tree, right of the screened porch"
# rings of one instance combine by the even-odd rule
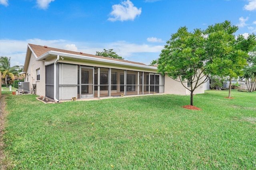
[[[204,79],[199,80],[199,82],[202,82]],[[195,83],[193,84],[195,85]],[[178,82],[176,80],[173,80],[167,74],[164,76],[164,93],[166,94],[179,94],[179,95],[190,95],[190,91],[184,86],[182,86],[181,82]],[[193,94],[201,94],[204,93],[204,84],[201,84]]]

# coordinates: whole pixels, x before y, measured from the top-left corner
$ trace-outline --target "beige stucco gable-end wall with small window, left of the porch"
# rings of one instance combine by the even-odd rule
[[[36,70],[40,68],[40,80],[36,80]],[[45,96],[45,66],[43,61],[36,61],[33,53],[30,56],[28,70],[25,77],[25,82],[29,81],[30,90],[33,84],[36,84],[36,95]]]

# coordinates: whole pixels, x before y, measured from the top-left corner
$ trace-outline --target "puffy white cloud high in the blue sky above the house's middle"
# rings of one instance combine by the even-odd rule
[[[109,21],[126,21],[134,20],[136,16],[140,16],[141,8],[137,8],[130,0],[124,0],[121,4],[112,6],[112,12],[110,13],[113,18],[108,18]]]

